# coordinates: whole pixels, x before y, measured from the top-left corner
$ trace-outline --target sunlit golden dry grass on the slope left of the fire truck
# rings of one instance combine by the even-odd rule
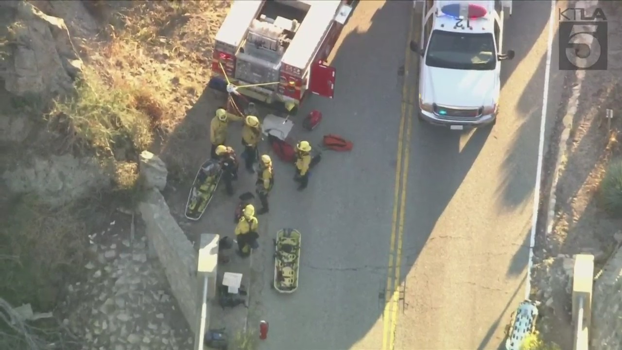
[[[229,3],[135,2],[108,19],[101,68],[167,106],[158,119],[165,134],[175,130],[207,85],[213,37]]]

